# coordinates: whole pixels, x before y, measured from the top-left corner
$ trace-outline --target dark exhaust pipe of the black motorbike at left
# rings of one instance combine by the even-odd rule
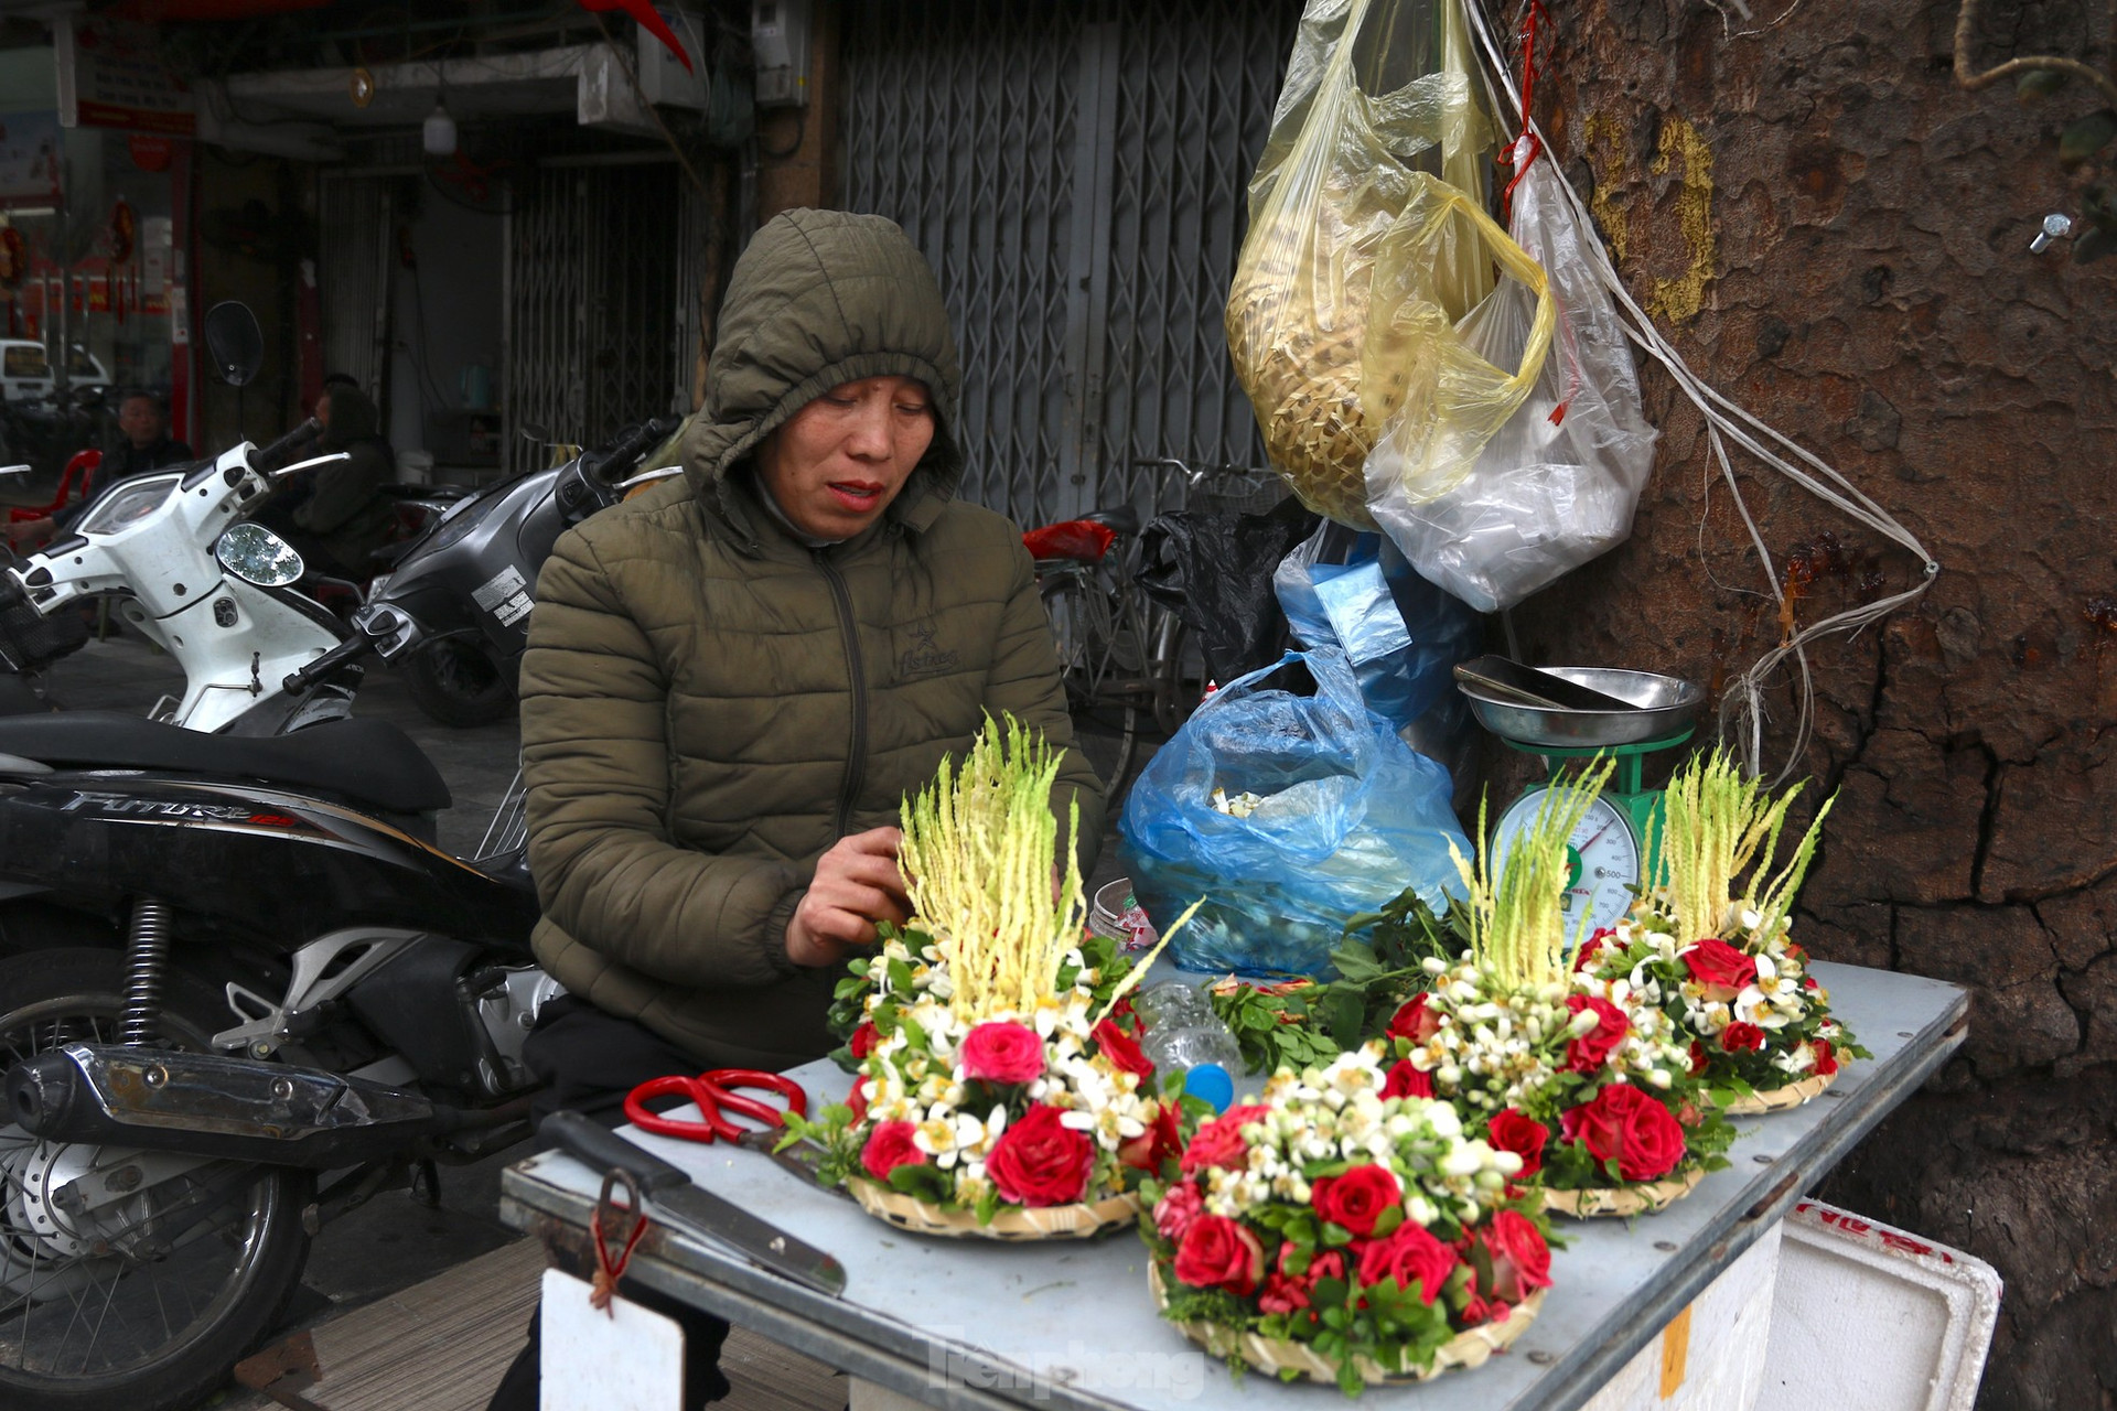
[[[464,1123],[419,1094],[286,1064],[70,1043],[6,1070],[13,1119],[51,1142],[332,1170]]]

